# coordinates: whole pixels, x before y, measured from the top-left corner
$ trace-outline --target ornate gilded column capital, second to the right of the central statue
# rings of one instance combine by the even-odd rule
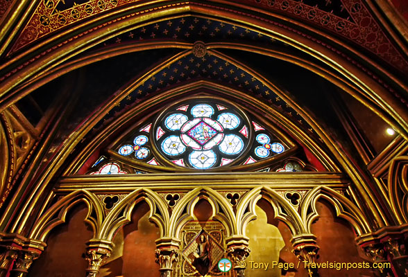
[[[303,262],[303,266],[307,269],[309,277],[318,277],[316,265],[316,258],[318,252],[318,245],[316,243],[316,236],[312,234],[296,235],[291,239],[294,249],[292,250],[295,256]]]

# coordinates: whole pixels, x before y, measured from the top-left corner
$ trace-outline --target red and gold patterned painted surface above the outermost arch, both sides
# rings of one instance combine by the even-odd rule
[[[2,1],[0,11],[6,10],[12,1]],[[38,1],[37,8],[31,15],[21,35],[10,49],[8,55],[26,48],[51,33],[57,33],[64,28],[70,28],[78,21],[92,20],[96,15],[103,15],[110,10],[126,8],[137,1],[133,0],[44,0]],[[362,0],[238,0],[236,5],[244,5],[256,12],[271,12],[275,15],[294,17],[299,22],[304,21],[316,28],[330,30],[342,39],[357,44],[381,57],[382,60],[395,66],[400,71],[408,70],[408,63],[391,44],[382,28],[371,15],[365,1]],[[160,9],[167,6],[163,1],[152,6]],[[174,5],[196,5],[205,8],[212,6],[207,1],[171,2]],[[234,4],[234,3],[232,3]],[[215,5],[215,3],[214,3]],[[223,10],[223,6],[213,6]],[[148,10],[140,11],[140,13]],[[136,12],[139,13],[139,12]],[[1,13],[0,13],[1,15]],[[278,24],[278,22],[276,23]],[[168,30],[171,29],[169,26]],[[170,31],[170,30],[169,30]],[[203,30],[204,31],[204,30]],[[155,34],[158,35],[158,34]],[[154,38],[154,37],[153,37]],[[180,39],[180,36],[174,39]]]

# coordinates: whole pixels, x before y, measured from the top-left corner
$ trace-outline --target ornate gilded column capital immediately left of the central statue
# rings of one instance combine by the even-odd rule
[[[171,277],[174,264],[180,256],[180,240],[160,238],[156,240],[155,262],[160,265],[160,277]]]

